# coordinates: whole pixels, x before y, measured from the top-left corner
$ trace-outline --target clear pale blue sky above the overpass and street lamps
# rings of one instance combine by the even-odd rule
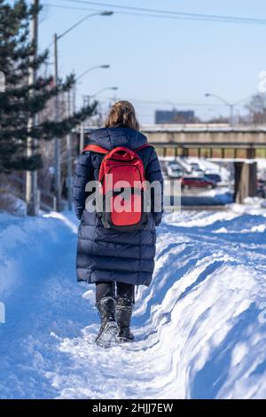
[[[97,0],[95,0],[97,2]],[[266,19],[265,0],[103,0],[177,12],[194,12]],[[40,48],[51,43],[54,32],[64,32],[82,19],[90,4],[43,0],[43,4],[83,7],[88,11],[45,6],[40,24]],[[112,6],[106,6],[112,9]],[[171,108],[171,103],[209,103],[195,106],[202,117],[226,114],[225,107],[204,98],[205,92],[218,94],[230,102],[257,92],[258,74],[266,70],[266,25],[246,25],[197,20],[152,19],[143,16],[94,16],[59,41],[59,73],[81,74],[87,68],[110,64],[82,78],[78,98],[101,88],[118,86],[118,98],[131,100],[140,122],[153,122],[155,108]],[[52,50],[51,50],[52,51]],[[112,91],[100,97],[113,96]],[[208,101],[207,101],[208,100]],[[159,104],[145,103],[156,101]],[[160,104],[161,103],[161,104]],[[193,106],[176,106],[193,108]]]

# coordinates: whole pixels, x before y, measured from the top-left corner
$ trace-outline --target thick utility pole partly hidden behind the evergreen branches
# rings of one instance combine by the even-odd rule
[[[34,53],[31,57],[33,62],[37,56],[38,49],[38,7],[39,0],[33,0],[33,5],[35,7],[35,14],[31,21],[31,41],[34,44]],[[36,69],[34,67],[29,68],[28,74],[28,85],[35,84],[36,82]],[[33,92],[30,93],[31,95]],[[27,130],[32,130],[37,122],[36,114],[28,119]],[[31,136],[27,137],[27,156],[31,157],[35,152],[35,139]],[[37,216],[37,171],[27,171],[26,173],[26,212],[27,216]]]

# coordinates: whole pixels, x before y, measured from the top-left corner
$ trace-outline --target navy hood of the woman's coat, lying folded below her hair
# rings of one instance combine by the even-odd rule
[[[125,146],[136,149],[147,143],[145,135],[129,128],[101,128],[89,134],[87,145],[102,146],[108,151],[116,146]]]

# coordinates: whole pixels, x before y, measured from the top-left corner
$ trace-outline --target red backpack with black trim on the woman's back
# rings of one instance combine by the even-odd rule
[[[97,214],[106,229],[134,231],[145,226],[145,168],[137,151],[148,146],[139,146],[135,151],[124,146],[115,147],[112,151],[97,145],[85,147],[84,152],[106,155],[98,176],[98,196],[102,205],[100,208],[96,205]]]

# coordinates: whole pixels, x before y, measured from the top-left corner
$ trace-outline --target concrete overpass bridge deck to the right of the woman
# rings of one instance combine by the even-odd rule
[[[266,157],[266,125],[162,124],[146,125],[142,131],[164,156]]]

